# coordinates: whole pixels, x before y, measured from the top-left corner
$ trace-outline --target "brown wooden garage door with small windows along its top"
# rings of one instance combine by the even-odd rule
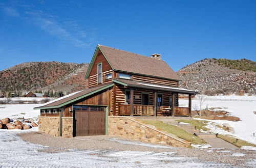
[[[75,106],[74,109],[76,136],[105,135],[105,107]]]

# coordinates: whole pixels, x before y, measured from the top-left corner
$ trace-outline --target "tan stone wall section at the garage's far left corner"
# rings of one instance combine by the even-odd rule
[[[38,124],[40,132],[59,136],[59,117],[39,117]]]

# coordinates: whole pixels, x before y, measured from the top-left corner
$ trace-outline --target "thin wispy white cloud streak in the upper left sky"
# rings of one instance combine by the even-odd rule
[[[92,44],[86,31],[81,29],[75,20],[66,19],[63,23],[57,20],[58,17],[33,10],[33,5],[18,5],[24,12],[18,13],[14,8],[8,7],[5,4],[0,4],[0,9],[8,16],[19,17],[32,22],[40,29],[44,30],[51,36],[54,36],[62,41],[71,43],[76,47],[88,47]],[[94,33],[91,33],[94,36]]]

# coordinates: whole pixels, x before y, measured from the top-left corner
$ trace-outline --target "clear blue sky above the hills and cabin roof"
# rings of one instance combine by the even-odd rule
[[[97,44],[162,54],[175,71],[204,58],[256,59],[256,1],[1,1],[0,70],[90,63]]]

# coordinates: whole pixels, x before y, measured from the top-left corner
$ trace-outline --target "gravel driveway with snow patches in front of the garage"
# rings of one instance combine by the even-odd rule
[[[176,148],[170,146],[160,146],[150,143],[140,143],[123,139],[115,136],[81,136],[73,138],[62,138],[48,135],[41,132],[29,132],[18,134],[33,144],[49,146],[49,151],[54,150],[97,150],[97,151],[141,151],[154,153],[173,153],[175,157],[186,157],[194,160],[193,162],[203,163],[204,166],[217,167],[253,167],[256,164],[256,151],[244,149],[194,149],[194,148]],[[164,159],[163,159],[164,162]],[[209,164],[210,163],[210,164]],[[201,165],[201,164],[198,164]]]

